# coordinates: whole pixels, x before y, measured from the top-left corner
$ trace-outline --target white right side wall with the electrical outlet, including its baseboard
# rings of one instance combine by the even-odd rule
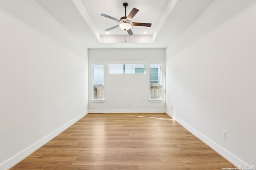
[[[168,113],[236,166],[256,164],[255,30],[255,0],[215,0],[166,49]]]

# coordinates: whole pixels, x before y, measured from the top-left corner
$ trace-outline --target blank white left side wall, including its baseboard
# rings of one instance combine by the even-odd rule
[[[0,21],[3,170],[87,113],[88,52],[34,0],[1,0]]]

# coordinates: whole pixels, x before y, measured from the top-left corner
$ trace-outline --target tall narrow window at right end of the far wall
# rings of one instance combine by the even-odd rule
[[[162,100],[161,63],[150,63],[150,100]]]

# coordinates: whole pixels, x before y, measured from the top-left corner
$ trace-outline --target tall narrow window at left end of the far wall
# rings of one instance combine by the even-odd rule
[[[92,64],[92,100],[104,100],[104,64]]]

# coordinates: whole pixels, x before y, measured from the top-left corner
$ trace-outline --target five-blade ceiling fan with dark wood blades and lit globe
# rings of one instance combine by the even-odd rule
[[[101,16],[104,16],[106,18],[109,18],[111,20],[115,20],[115,21],[120,22],[119,25],[116,25],[114,27],[110,27],[108,29],[105,29],[105,31],[110,31],[111,29],[120,27],[124,31],[127,31],[129,35],[133,35],[132,30],[131,30],[132,25],[134,25],[134,26],[151,27],[151,23],[140,23],[140,22],[132,22],[131,23],[132,18],[137,14],[137,12],[139,10],[136,9],[136,8],[132,8],[132,11],[130,12],[130,14],[128,16],[126,16],[126,7],[128,6],[128,4],[124,3],[123,6],[125,8],[125,16],[121,17],[120,20],[118,20],[118,19],[116,19],[114,17],[108,16],[106,14],[100,14]]]

